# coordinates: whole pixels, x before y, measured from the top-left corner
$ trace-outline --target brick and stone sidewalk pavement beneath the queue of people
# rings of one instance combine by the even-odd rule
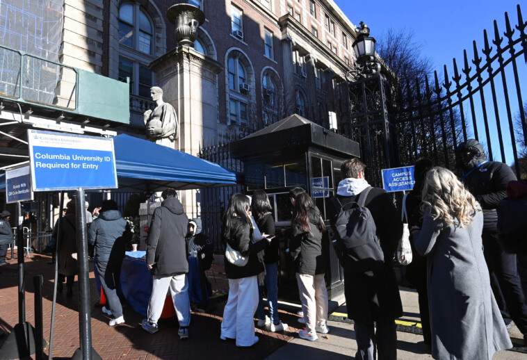
[[[40,254],[33,254],[26,259],[26,320],[35,325],[33,310],[33,281],[34,275],[44,276],[43,311],[44,338],[49,341],[51,322],[51,301],[53,299],[54,265],[49,265],[51,258]],[[16,260],[8,260],[10,265],[0,268],[0,345],[18,321],[17,284],[18,274]],[[91,265],[91,263],[90,263]],[[213,288],[226,289],[225,276],[216,272],[211,273]],[[57,295],[55,331],[53,344],[54,359],[69,359],[79,347],[79,315],[77,283],[74,285],[74,297],[65,297],[65,293]],[[126,323],[117,327],[108,326],[108,316],[95,307],[98,293],[95,288],[95,278],[90,272],[91,318],[92,318],[92,347],[102,359],[215,359],[215,360],[260,360],[260,359],[352,359],[355,355],[356,343],[353,326],[346,322],[343,307],[337,309],[328,322],[330,334],[319,336],[317,341],[309,342],[298,338],[297,333],[303,327],[298,323],[298,316],[294,306],[281,306],[280,318],[289,324],[286,332],[274,334],[257,329],[259,343],[243,349],[236,347],[233,341],[220,340],[220,322],[222,320],[225,300],[220,302],[216,310],[209,314],[193,313],[190,324],[190,338],[180,341],[177,336],[177,320],[175,318],[161,320],[159,332],[148,334],[140,327],[143,316],[135,313],[130,306],[124,307]],[[417,295],[410,289],[402,289],[405,316],[403,325],[398,332],[399,359],[431,359],[424,354],[425,349],[421,335],[410,334],[416,331],[414,324],[419,321],[417,309]],[[341,321],[334,321],[341,320]],[[408,326],[410,324],[410,326]],[[517,329],[512,329],[512,336],[520,337]],[[47,359],[49,347],[44,349]],[[35,359],[35,355],[32,356]],[[495,360],[527,359],[527,354],[505,351],[496,354]]]

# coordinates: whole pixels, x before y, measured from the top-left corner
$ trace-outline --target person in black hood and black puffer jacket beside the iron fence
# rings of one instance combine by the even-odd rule
[[[469,139],[460,143],[456,149],[456,158],[461,181],[483,208],[483,252],[490,272],[492,292],[502,315],[506,314],[500,301],[503,298],[510,317],[524,338],[527,338],[527,301],[521,289],[516,255],[503,249],[497,227],[496,208],[501,199],[507,197],[507,185],[509,181],[516,180],[516,176],[507,164],[489,161],[478,140]],[[493,276],[498,286],[492,282]]]

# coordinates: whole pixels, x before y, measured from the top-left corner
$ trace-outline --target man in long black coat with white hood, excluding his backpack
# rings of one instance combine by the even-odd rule
[[[341,165],[343,180],[337,188],[337,199],[344,205],[362,201],[361,194],[370,187],[364,178],[366,165],[358,158]],[[391,196],[382,188],[371,188],[364,206],[368,208],[377,227],[380,246],[384,253],[384,266],[378,270],[354,273],[344,269],[344,295],[348,318],[355,322],[357,360],[396,360],[396,318],[403,316],[394,268],[391,266],[398,240],[403,234],[403,223]],[[332,227],[339,208],[329,206]],[[338,247],[335,247],[339,254]],[[377,357],[375,357],[375,349]]]

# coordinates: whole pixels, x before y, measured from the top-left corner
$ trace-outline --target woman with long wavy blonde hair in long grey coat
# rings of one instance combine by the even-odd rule
[[[432,357],[492,360],[512,343],[490,288],[481,208],[443,167],[426,175],[422,206],[423,228],[411,231],[417,252],[428,256]]]

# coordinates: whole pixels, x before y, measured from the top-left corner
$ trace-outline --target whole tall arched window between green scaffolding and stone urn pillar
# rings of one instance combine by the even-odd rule
[[[119,80],[130,79],[130,94],[150,97],[154,73],[154,26],[139,3],[122,3],[119,8]]]

